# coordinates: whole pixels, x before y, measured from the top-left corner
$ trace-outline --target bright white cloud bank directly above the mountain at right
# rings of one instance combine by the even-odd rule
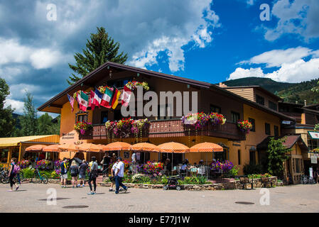
[[[271,50],[261,55],[252,57],[250,60],[239,62],[248,65],[266,65],[266,67],[279,67],[273,72],[264,72],[261,67],[244,69],[237,67],[229,74],[227,79],[239,79],[243,77],[264,77],[274,79],[278,82],[302,82],[319,77],[318,50],[308,48],[290,48],[287,50]],[[310,58],[305,60],[304,57]]]

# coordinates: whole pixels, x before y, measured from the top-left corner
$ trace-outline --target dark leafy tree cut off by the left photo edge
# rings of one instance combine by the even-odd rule
[[[0,137],[9,137],[16,123],[12,116],[14,109],[11,109],[11,105],[4,108],[4,101],[9,94],[8,84],[0,77]]]

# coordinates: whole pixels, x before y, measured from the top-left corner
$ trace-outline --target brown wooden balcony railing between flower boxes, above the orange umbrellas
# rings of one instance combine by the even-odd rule
[[[180,119],[151,121],[149,131],[143,133],[143,137],[164,138],[180,137],[188,135],[206,135],[229,140],[245,140],[245,133],[239,131],[236,123],[225,123],[222,126],[205,126],[202,130],[196,131],[194,127],[185,127]],[[131,135],[134,137],[134,135]],[[80,140],[107,139],[107,131],[103,125],[94,125],[92,134],[80,136]]]

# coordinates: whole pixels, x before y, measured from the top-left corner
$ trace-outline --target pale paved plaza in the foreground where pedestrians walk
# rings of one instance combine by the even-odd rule
[[[68,187],[22,184],[18,192],[8,192],[9,184],[0,184],[0,212],[319,212],[319,184],[271,188],[269,206],[260,204],[260,188],[180,192],[131,188],[126,194],[114,194],[108,187],[97,187],[97,194],[87,195],[88,187]],[[49,188],[56,189],[56,205],[47,204]]]

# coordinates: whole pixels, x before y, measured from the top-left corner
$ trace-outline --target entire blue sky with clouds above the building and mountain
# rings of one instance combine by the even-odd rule
[[[48,20],[48,4],[56,21]],[[270,21],[261,21],[268,4]],[[318,0],[0,0],[0,77],[6,106],[23,111],[25,90],[40,106],[67,87],[67,63],[104,26],[127,65],[205,82],[319,77]]]

